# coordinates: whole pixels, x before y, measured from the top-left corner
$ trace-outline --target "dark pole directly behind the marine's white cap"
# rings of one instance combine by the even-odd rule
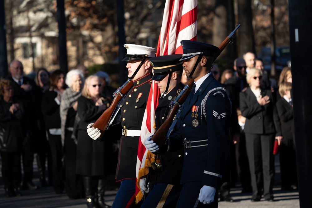
[[[124,0],[117,0],[117,24],[118,24],[118,59],[119,59],[119,76],[120,84],[124,84],[128,79],[128,71],[126,70],[126,61],[122,61],[126,56],[127,49],[124,47],[126,38],[124,35]]]

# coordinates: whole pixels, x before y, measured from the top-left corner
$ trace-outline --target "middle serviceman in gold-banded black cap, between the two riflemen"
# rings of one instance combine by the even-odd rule
[[[156,131],[168,116],[170,102],[184,87],[181,83],[183,70],[181,58],[182,54],[172,54],[149,59],[154,68],[152,80],[155,80],[155,84],[158,85],[162,93],[155,110]],[[147,147],[153,143],[153,141],[150,141],[150,138],[145,142]],[[165,149],[161,154],[158,154],[156,150],[151,150],[151,152],[157,154],[157,157],[160,158],[162,170],[155,170],[157,171],[157,178],[156,181],[150,182],[150,186],[155,184],[150,192],[149,187],[146,186],[145,178],[140,180],[141,191],[149,192],[141,207],[156,208],[160,205],[163,205],[162,207],[175,207],[182,188],[180,178],[183,164],[183,145],[181,142],[171,144],[170,151]],[[151,175],[154,174],[152,173]]]

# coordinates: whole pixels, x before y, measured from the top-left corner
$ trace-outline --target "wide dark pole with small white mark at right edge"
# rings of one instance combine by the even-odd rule
[[[300,207],[312,207],[312,1],[289,0],[289,33]]]

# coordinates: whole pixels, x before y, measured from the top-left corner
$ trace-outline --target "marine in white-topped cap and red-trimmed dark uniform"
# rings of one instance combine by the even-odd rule
[[[119,141],[116,181],[121,181],[115,197],[114,207],[139,207],[135,204],[135,168],[138,155],[140,129],[151,88],[152,67],[148,59],[155,56],[156,49],[133,44],[125,44],[128,77],[134,86],[124,96],[120,104],[122,136]],[[138,68],[139,64],[142,64]]]

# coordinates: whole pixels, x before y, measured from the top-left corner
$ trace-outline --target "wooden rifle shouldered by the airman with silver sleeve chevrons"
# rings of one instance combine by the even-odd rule
[[[214,56],[213,60],[216,60],[217,57],[221,54],[221,52],[225,49],[225,47],[232,41],[232,39],[235,37],[236,30],[241,26],[241,24],[238,24],[235,26],[235,29],[231,32],[229,36],[225,38],[225,40],[221,43],[219,46],[219,52]],[[169,111],[167,119],[163,122],[163,124],[157,129],[157,131],[154,133],[151,140],[153,140],[159,147],[158,152],[161,152],[161,149],[163,147],[163,144],[166,141],[167,133],[169,131],[169,128],[173,122],[173,119],[175,115],[177,114],[179,108],[184,103],[186,98],[188,97],[188,94],[191,92],[192,86],[194,84],[194,80],[190,79],[188,80],[188,83],[185,85],[186,87],[182,90],[182,92],[172,101],[172,106]],[[183,92],[184,91],[184,92]],[[183,94],[182,94],[183,93]],[[171,104],[170,104],[171,105]]]

